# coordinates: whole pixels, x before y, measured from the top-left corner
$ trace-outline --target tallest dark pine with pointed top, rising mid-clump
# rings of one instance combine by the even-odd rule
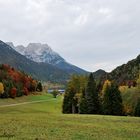
[[[88,78],[87,88],[85,92],[85,102],[87,103],[88,114],[98,114],[100,112],[99,97],[92,73],[89,75]]]

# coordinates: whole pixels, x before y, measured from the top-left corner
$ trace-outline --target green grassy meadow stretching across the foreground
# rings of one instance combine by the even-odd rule
[[[11,107],[6,104],[46,100]],[[62,97],[0,99],[0,140],[140,140],[140,118],[64,115]]]

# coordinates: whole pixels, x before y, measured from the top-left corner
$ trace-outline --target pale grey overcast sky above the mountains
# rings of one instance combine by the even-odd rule
[[[140,0],[0,0],[0,39],[47,43],[88,71],[140,54]]]

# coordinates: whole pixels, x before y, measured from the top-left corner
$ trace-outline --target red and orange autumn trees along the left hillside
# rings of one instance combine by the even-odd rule
[[[15,98],[42,91],[42,84],[7,64],[0,65],[0,98]]]

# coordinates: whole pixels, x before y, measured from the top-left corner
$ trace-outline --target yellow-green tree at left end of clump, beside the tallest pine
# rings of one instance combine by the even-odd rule
[[[80,96],[85,88],[85,76],[72,76],[67,84],[63,100],[63,113],[79,113]]]

